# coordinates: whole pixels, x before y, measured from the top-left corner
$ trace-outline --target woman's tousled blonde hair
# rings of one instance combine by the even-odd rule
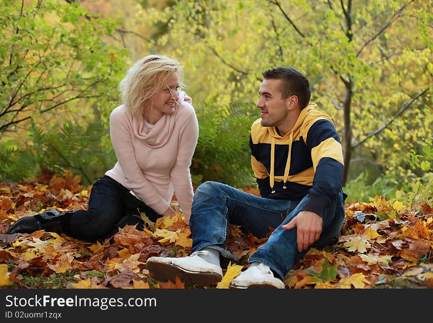
[[[152,108],[153,97],[177,72],[180,89],[184,84],[184,67],[176,60],[164,55],[149,55],[137,60],[119,83],[122,103],[131,116],[144,115]]]

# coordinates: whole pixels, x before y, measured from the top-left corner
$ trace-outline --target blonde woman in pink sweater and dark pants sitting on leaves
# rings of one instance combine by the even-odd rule
[[[50,209],[21,218],[7,234],[46,230],[103,240],[126,224],[143,229],[142,212],[152,221],[173,215],[173,193],[189,222],[189,167],[198,122],[182,88],[183,66],[177,60],[150,55],[136,61],[119,85],[122,105],[110,116],[117,162],[93,184],[88,210],[59,214]]]

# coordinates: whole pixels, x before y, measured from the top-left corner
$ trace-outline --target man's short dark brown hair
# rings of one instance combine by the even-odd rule
[[[262,72],[265,79],[280,80],[280,91],[283,99],[291,95],[298,97],[298,103],[301,110],[304,109],[311,98],[311,88],[309,81],[294,67],[276,67]]]

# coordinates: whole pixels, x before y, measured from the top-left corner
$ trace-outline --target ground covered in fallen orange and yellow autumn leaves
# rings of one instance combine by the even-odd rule
[[[21,183],[0,182],[1,288],[228,288],[247,268],[248,256],[267,240],[230,226],[226,243],[239,263],[230,264],[216,285],[187,286],[180,280],[157,281],[146,269],[149,257],[190,254],[191,232],[180,212],[156,223],[142,214],[145,231],[126,226],[112,239],[95,243],[45,231],[5,235],[19,218],[48,208],[87,209],[91,187],[80,182],[70,172]],[[246,191],[257,194],[251,188]],[[172,205],[177,206],[175,197]],[[429,203],[405,206],[376,196],[371,203],[351,202],[345,209],[338,241],[310,249],[286,275],[286,288],[433,288]]]

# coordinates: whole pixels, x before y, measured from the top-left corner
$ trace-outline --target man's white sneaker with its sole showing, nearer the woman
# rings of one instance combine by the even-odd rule
[[[187,257],[151,257],[146,262],[149,272],[161,281],[176,281],[176,276],[188,285],[215,284],[222,279],[222,269],[216,264],[208,263],[200,255],[209,254],[200,250]]]

